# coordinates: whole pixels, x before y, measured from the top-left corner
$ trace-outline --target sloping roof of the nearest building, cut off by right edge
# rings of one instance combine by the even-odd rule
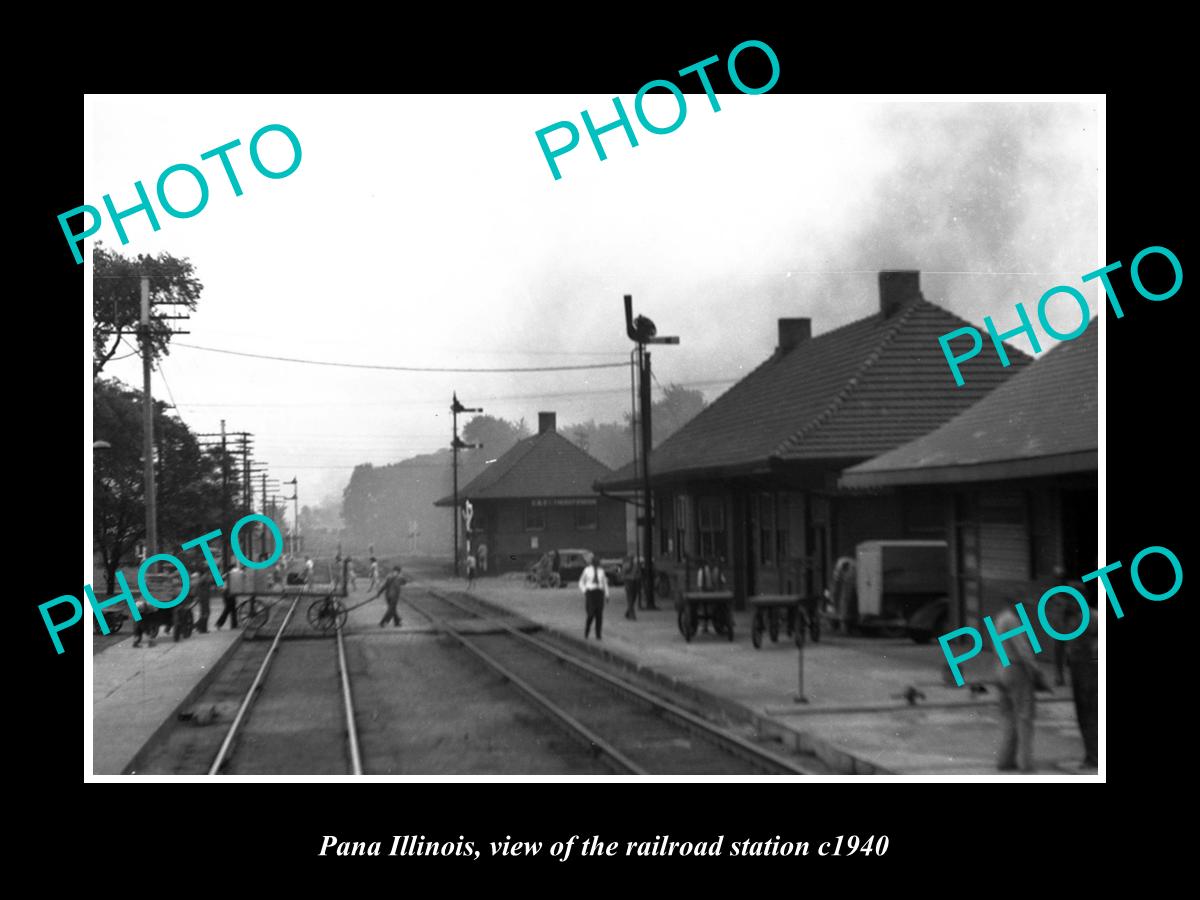
[[[1096,319],[942,427],[842,475],[846,487],[992,481],[1094,472]]]

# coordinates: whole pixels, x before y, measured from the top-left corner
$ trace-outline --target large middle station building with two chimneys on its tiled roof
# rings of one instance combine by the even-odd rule
[[[676,588],[720,557],[738,607],[755,594],[812,596],[860,541],[944,540],[936,494],[863,494],[838,479],[949,421],[1030,358],[1008,347],[1006,368],[980,353],[956,386],[937,338],[968,323],[928,301],[917,271],[880,272],[876,304],[817,336],[809,318],[780,319],[775,352],[650,454],[654,563]],[[638,491],[636,464],[598,487]]]

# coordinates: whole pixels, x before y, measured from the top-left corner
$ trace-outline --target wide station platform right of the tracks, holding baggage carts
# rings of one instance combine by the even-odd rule
[[[761,733],[818,756],[844,774],[996,775],[1002,720],[995,688],[970,690],[990,679],[995,658],[980,654],[964,667],[967,684],[949,680],[936,641],[916,644],[886,638],[829,634],[804,647],[804,696],[799,689],[799,652],[786,636],[778,643],[750,642],[751,614],[734,612],[734,640],[700,634],[684,641],[670,600],[656,611],[624,618],[625,595],[614,588],[605,608],[604,640],[583,640],[583,598],[575,584],[538,589],[523,578],[419,578],[434,590],[466,592],[497,611],[522,616],[556,637],[586,646],[590,653],[637,671],[690,696],[733,721],[751,722]],[[1043,662],[1046,680],[1054,682]],[[908,702],[910,689],[923,697]],[[1033,750],[1038,774],[1064,775],[1082,760],[1070,688],[1038,694]],[[1094,770],[1084,774],[1093,774]],[[1014,775],[1016,776],[1016,775]]]

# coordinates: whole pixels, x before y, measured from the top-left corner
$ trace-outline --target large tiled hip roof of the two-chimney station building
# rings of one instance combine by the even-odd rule
[[[1002,367],[984,338],[956,386],[937,338],[970,325],[917,292],[776,352],[650,456],[655,481],[766,472],[779,463],[866,460],[925,434],[1028,365]],[[1007,347],[1007,344],[1006,344]],[[636,487],[632,466],[600,482]]]

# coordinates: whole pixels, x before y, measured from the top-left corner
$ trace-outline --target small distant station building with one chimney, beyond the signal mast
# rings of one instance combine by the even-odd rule
[[[458,488],[473,506],[470,546],[486,548],[486,571],[522,571],[551,550],[625,554],[625,505],[593,485],[612,469],[558,433],[554,413],[538,414],[538,433],[518,442]],[[434,505],[451,506],[454,497]]]

